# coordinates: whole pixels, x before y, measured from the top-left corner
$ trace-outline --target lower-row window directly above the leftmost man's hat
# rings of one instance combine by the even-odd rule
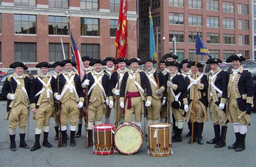
[[[14,61],[37,62],[37,43],[14,42]]]

